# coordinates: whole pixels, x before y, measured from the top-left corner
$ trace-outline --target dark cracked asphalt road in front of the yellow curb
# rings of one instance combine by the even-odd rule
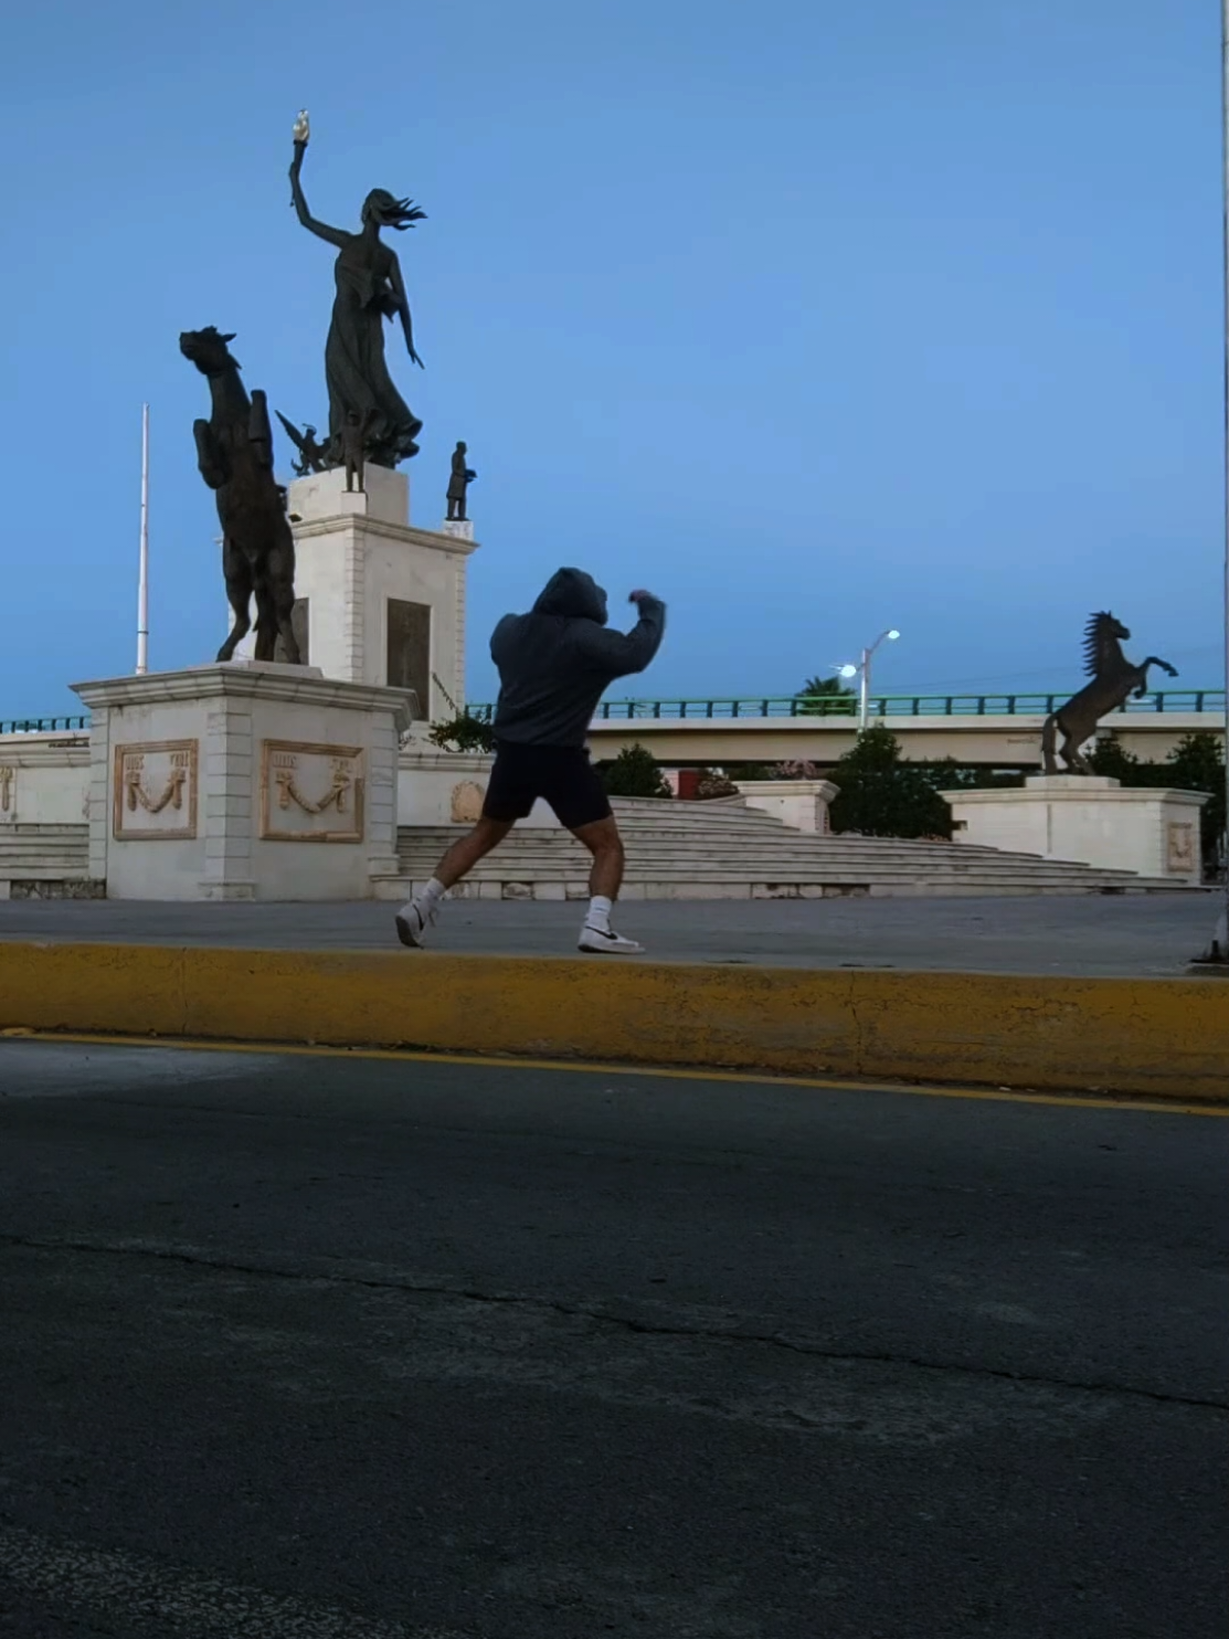
[[[0,1044],[5,1639],[1222,1639],[1229,1121]]]

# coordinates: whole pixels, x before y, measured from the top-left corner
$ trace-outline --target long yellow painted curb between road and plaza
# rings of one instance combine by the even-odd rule
[[[1229,990],[1181,978],[0,944],[13,1028],[1229,1101]]]

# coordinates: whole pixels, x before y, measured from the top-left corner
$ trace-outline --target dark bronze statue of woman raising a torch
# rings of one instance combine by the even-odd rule
[[[395,467],[418,454],[415,439],[423,423],[393,387],[383,359],[383,321],[400,318],[410,357],[423,369],[415,352],[410,302],[401,280],[397,254],[380,241],[380,228],[411,228],[426,211],[411,200],[398,200],[383,188],[367,195],[362,207],[362,231],[346,233],[316,221],[303,198],[300,170],[308,144],[306,115],[295,123],[295,157],[290,164],[290,190],[303,226],[338,247],[333,323],[324,344],[324,374],[329,388],[329,464],[339,465],[342,431],[349,416],[367,428],[367,459],[377,467]]]

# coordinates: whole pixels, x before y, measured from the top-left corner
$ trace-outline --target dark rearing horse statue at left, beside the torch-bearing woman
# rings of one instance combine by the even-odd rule
[[[285,495],[274,477],[274,431],[269,405],[259,390],[247,397],[239,365],[213,325],[187,329],[179,351],[210,384],[213,415],[193,421],[197,465],[218,497],[221,569],[234,624],[218,649],[220,661],[234,657],[252,626],[249,605],[256,597],[256,659],[272,661],[277,639],[290,665],[302,665],[292,626],[295,608],[295,538],[285,513]]]

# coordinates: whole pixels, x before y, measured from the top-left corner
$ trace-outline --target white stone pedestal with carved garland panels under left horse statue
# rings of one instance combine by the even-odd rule
[[[362,900],[397,874],[390,688],[257,661],[74,683],[115,900]]]

